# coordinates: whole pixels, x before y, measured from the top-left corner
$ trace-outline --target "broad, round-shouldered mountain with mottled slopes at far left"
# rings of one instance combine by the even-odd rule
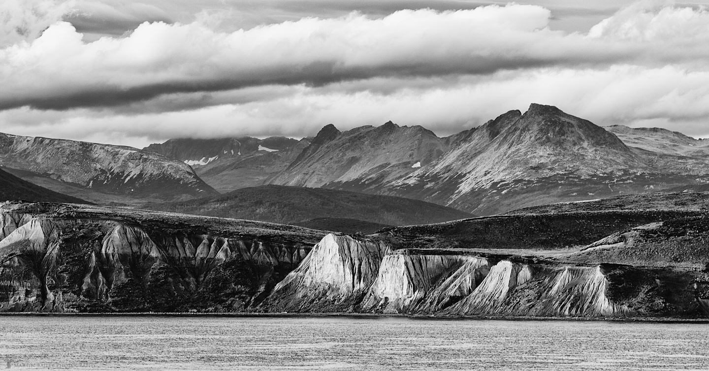
[[[0,166],[52,190],[104,202],[213,195],[186,164],[132,147],[0,133]],[[86,192],[89,190],[89,192]]]

